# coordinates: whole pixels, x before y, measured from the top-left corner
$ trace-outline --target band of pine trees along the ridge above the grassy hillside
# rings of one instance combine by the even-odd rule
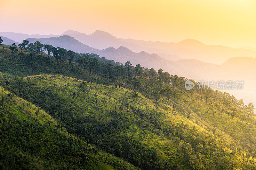
[[[39,68],[40,74],[42,74],[42,67],[45,68],[46,74],[48,74],[48,68],[55,69],[57,74],[61,74],[61,70],[72,67],[81,79],[113,85],[116,88],[122,86],[132,89],[148,98],[162,100],[168,105],[168,108],[169,105],[172,105],[174,109],[175,101],[177,102],[177,99],[184,95],[190,97],[191,104],[194,99],[196,101],[204,100],[205,105],[218,107],[225,114],[231,114],[233,118],[236,115],[237,107],[246,110],[248,120],[250,115],[254,114],[253,103],[244,105],[243,99],[237,100],[228,93],[214,91],[208,89],[207,86],[205,89],[186,90],[185,81],[188,80],[187,78],[169,74],[161,68],[156,72],[154,68],[144,68],[140,64],[134,67],[130,61],[123,64],[114,60],[107,60],[93,53],[76,53],[49,44],[43,45],[39,41],[33,44],[29,43],[28,40],[23,40],[18,46],[13,43],[9,49],[12,60],[19,50],[16,56],[22,62],[23,71],[27,67],[28,76],[31,72],[34,75],[36,67]],[[195,87],[198,85],[194,80],[189,80],[195,83]]]

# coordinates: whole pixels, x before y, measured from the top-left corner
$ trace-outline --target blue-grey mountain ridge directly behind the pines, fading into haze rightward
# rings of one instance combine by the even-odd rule
[[[104,50],[99,50],[87,46],[68,35],[41,39],[28,38],[27,40],[32,43],[40,41],[42,44],[51,44],[52,46],[65,48],[67,50],[72,50],[78,53],[96,53],[100,54],[108,60],[115,60],[116,62],[123,64],[126,61],[131,61],[133,65],[141,64],[143,67],[150,68],[162,67],[163,69],[167,70],[168,64],[166,63],[170,62],[169,60],[164,59],[157,54],[149,54],[146,52],[135,53],[124,46],[120,46],[118,48],[108,47]]]

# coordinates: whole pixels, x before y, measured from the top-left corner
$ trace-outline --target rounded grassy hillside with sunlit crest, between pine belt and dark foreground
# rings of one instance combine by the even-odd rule
[[[225,133],[230,116],[223,113],[220,118],[217,110],[215,116],[201,115],[207,112],[204,102],[191,106],[188,97],[179,99],[177,109],[172,111],[162,102],[140,94],[136,97],[131,90],[88,82],[83,102],[81,81],[69,77],[58,76],[55,88],[52,75],[28,77],[23,83],[23,97],[44,108],[68,132],[144,169],[239,167],[240,161],[246,165],[254,153],[248,151],[250,156],[243,160],[241,154],[246,152],[242,152],[241,143],[232,136],[239,135],[241,127],[245,131],[246,122],[238,124],[235,118],[229,127],[232,133]],[[194,107],[201,110],[193,111]],[[189,112],[190,117],[184,112]],[[199,119],[203,116],[204,120]],[[212,123],[216,120],[218,128]],[[241,140],[246,135],[252,138],[254,133],[255,126]],[[223,159],[228,164],[222,165]],[[248,163],[246,166],[250,167]]]

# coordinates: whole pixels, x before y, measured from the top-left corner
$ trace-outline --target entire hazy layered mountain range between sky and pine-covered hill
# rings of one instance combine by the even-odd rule
[[[2,35],[0,33],[0,36]],[[9,33],[9,35],[12,34]],[[13,35],[17,36],[15,40],[30,36],[17,33]],[[123,64],[126,61],[131,61],[133,65],[141,64],[145,68],[153,67],[156,70],[162,68],[171,74],[189,77],[196,81],[244,80],[245,87],[243,91],[233,90],[228,92],[235,94],[237,97],[243,97],[245,101],[246,96],[250,96],[249,98],[252,101],[251,98],[254,98],[254,94],[256,94],[254,89],[256,81],[252,79],[253,73],[256,71],[254,67],[256,58],[253,58],[256,56],[256,51],[245,49],[245,47],[235,49],[220,45],[208,46],[194,39],[186,39],[178,43],[118,39],[103,31],[96,31],[90,35],[72,30],[64,32],[60,36],[32,35],[32,37],[40,36],[45,38],[27,38],[27,40],[33,43],[40,41],[42,44],[51,44],[78,53],[96,53],[108,60],[115,60]],[[148,50],[140,51],[140,49]],[[213,60],[223,62],[217,62],[216,64]],[[256,103],[256,99],[253,100]]]

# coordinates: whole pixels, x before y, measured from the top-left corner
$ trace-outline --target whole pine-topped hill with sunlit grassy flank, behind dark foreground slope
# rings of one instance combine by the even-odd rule
[[[187,91],[185,77],[162,69],[32,45],[22,52],[2,45],[1,86],[99,151],[141,169],[256,168],[252,103],[207,88]]]

